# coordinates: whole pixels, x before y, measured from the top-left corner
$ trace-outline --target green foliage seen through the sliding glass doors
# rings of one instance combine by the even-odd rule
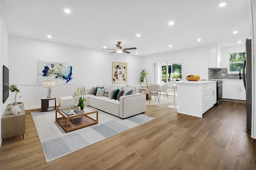
[[[162,81],[166,82],[166,65],[162,65]],[[181,63],[168,65],[168,79],[181,79]]]

